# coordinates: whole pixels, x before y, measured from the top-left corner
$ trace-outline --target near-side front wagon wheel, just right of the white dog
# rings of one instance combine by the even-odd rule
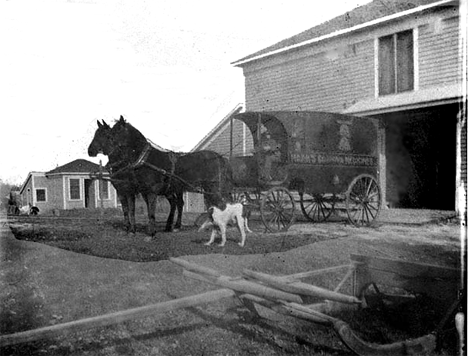
[[[283,187],[269,189],[260,202],[260,214],[267,231],[286,231],[294,221],[294,199]]]

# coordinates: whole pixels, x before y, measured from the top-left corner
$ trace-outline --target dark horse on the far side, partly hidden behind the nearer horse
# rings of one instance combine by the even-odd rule
[[[128,232],[136,232],[135,222],[135,200],[136,196],[141,193],[147,203],[149,198],[145,192],[140,189],[138,180],[135,177],[134,171],[126,169],[127,163],[120,157],[118,146],[112,139],[111,127],[103,120],[102,123],[97,121],[98,128],[94,134],[94,138],[88,147],[88,155],[90,157],[97,156],[98,153],[103,153],[108,156],[109,162],[106,169],[111,175],[111,183],[114,186],[117,196],[122,204],[124,214],[125,229]],[[180,229],[182,226],[182,210],[184,206],[182,191],[172,189],[164,194],[170,204],[170,212],[166,222],[165,231],[170,232],[174,229]],[[148,215],[150,215],[151,207],[148,206]],[[177,209],[177,220],[173,227],[175,210]],[[154,210],[153,210],[154,211]],[[154,215],[154,213],[153,213]]]

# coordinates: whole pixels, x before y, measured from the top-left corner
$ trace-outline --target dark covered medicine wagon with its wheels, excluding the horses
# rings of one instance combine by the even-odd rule
[[[325,112],[246,112],[251,155],[231,157],[234,193],[259,208],[269,231],[286,230],[295,202],[310,221],[344,210],[355,225],[379,215],[379,130],[372,118]],[[231,147],[232,150],[232,147]]]

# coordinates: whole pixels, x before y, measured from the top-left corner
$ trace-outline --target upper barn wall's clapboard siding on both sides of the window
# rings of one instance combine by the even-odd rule
[[[342,112],[374,98],[375,39],[408,29],[417,29],[416,90],[459,83],[459,22],[443,9],[245,64],[246,110]]]

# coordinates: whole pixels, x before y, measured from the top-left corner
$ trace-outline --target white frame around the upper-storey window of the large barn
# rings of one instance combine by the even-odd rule
[[[402,93],[408,93],[412,91],[418,90],[418,81],[419,81],[419,76],[418,76],[418,28],[417,27],[412,27],[412,28],[406,28],[406,29],[401,29],[398,30],[397,32],[393,31],[391,33],[386,33],[386,34],[379,34],[377,37],[375,37],[375,97],[385,97],[388,95],[395,95],[395,94],[402,94]],[[399,74],[401,76],[401,69],[398,69],[398,35],[403,34],[405,32],[411,33],[411,40],[412,40],[412,50],[408,53],[410,53],[411,59],[412,59],[412,87],[410,89],[406,90],[399,90],[398,85],[399,85]],[[381,93],[381,68],[382,64],[380,63],[380,56],[381,56],[381,39],[384,39],[386,37],[391,37],[392,39],[392,47],[393,47],[393,59],[392,59],[392,64],[394,68],[394,78],[393,78],[393,91],[389,93]]]

